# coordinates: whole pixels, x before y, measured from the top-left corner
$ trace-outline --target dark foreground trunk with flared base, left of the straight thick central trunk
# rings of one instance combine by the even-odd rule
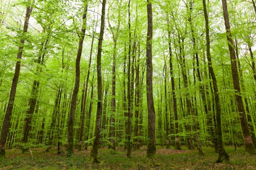
[[[97,114],[96,114],[96,126],[95,126],[95,138],[93,140],[93,148],[91,151],[91,162],[99,163],[98,159],[98,147],[100,139],[100,125],[101,125],[101,114],[102,114],[102,77],[101,77],[101,52],[102,52],[102,41],[105,26],[105,6],[106,0],[102,0],[102,12],[101,12],[101,24],[100,34],[98,43],[97,53],[97,86],[98,86],[98,102],[97,102]]]

